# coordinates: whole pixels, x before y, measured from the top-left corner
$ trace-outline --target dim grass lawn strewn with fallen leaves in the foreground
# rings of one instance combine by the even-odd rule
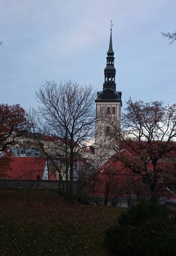
[[[120,211],[69,204],[53,191],[0,190],[0,255],[110,255],[104,230]]]

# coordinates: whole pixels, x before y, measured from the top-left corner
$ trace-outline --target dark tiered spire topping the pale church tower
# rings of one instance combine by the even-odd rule
[[[116,92],[115,75],[116,69],[114,67],[114,51],[112,40],[112,21],[111,21],[111,33],[109,39],[109,49],[106,57],[106,67],[104,68],[104,83],[102,92],[97,92],[97,101],[120,101],[122,105],[121,95],[122,92]]]

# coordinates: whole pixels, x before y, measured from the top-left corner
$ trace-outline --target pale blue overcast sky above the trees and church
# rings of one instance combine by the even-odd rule
[[[113,20],[116,90],[125,101],[176,102],[175,0],[1,0],[0,103],[36,106],[45,81],[102,90]]]

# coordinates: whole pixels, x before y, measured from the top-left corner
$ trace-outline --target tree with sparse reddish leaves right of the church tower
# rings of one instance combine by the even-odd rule
[[[133,173],[142,175],[151,200],[156,201],[161,188],[175,180],[176,104],[163,106],[162,101],[144,103],[129,99],[122,116],[122,130],[116,129],[113,135],[120,140],[116,158]],[[124,154],[122,148],[128,153]]]

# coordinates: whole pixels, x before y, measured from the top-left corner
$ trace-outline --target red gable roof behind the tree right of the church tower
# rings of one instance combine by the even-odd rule
[[[121,150],[121,153],[133,157],[126,149]],[[139,193],[141,196],[150,196],[150,189],[143,182],[145,173],[132,172],[117,156],[118,154],[115,154],[106,163],[102,164],[89,180],[90,195],[127,196],[129,193],[130,195]],[[161,166],[163,164],[159,163]],[[152,172],[152,163],[149,162],[147,168],[148,172]],[[157,189],[159,195],[175,198],[175,194],[163,184],[162,180],[157,180]]]

